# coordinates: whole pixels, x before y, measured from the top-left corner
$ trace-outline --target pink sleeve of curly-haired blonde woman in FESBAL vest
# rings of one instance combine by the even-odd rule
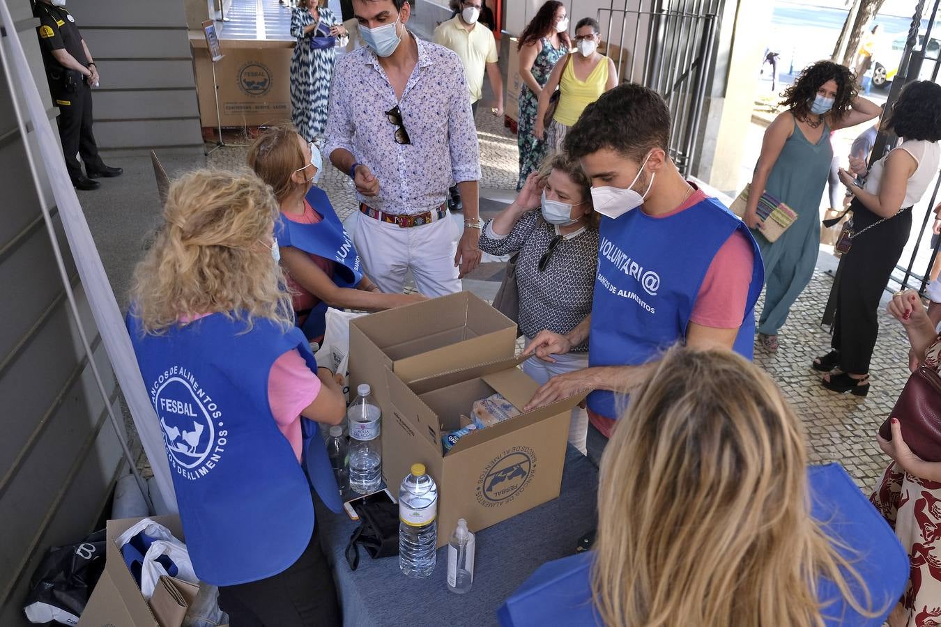
[[[282,354],[268,372],[268,405],[298,462],[303,444],[300,413],[317,398],[320,385],[320,379],[308,368],[297,349]]]

